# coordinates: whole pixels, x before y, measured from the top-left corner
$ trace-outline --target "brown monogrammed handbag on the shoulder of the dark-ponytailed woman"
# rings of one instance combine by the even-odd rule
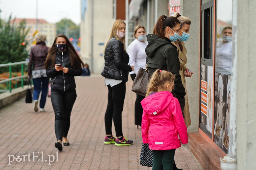
[[[133,81],[132,88],[131,88],[131,91],[133,91],[139,95],[142,95],[142,96],[145,96],[148,91],[148,84],[149,84],[149,78],[150,78],[150,73],[149,73],[149,70],[147,67],[148,59],[149,59],[149,57],[147,56],[146,67],[145,67],[145,69],[140,67],[140,69],[137,72],[137,75]]]

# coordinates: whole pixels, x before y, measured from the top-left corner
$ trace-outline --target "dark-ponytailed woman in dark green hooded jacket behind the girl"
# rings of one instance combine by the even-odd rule
[[[149,44],[145,49],[147,56],[149,56],[148,69],[151,74],[156,69],[161,69],[168,70],[176,75],[174,80],[175,88],[172,94],[178,99],[183,114],[186,92],[179,74],[180,61],[177,47],[172,44],[172,41],[177,41],[181,34],[180,21],[173,16],[162,15],[158,18],[153,33],[147,35]],[[177,169],[175,162],[173,162],[173,169]]]

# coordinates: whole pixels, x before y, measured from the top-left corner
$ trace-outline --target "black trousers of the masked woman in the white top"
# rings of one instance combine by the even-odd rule
[[[131,79],[134,81],[136,74],[131,74]],[[135,118],[135,125],[141,126],[143,108],[141,106],[141,101],[145,98],[145,96],[136,94],[136,100],[134,104],[134,118]]]

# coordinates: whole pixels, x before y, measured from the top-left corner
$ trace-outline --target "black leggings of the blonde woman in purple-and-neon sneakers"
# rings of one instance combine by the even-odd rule
[[[125,101],[125,81],[108,87],[107,110],[105,113],[106,135],[112,135],[112,120],[114,122],[116,136],[123,136],[122,132],[122,111]]]

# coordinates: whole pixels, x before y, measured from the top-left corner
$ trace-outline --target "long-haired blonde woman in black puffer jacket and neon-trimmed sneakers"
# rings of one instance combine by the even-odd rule
[[[128,72],[133,71],[129,66],[129,55],[124,48],[125,22],[121,19],[114,22],[111,34],[105,46],[105,66],[101,73],[105,77],[105,86],[108,87],[107,110],[105,113],[106,137],[104,144],[115,143],[116,146],[131,145],[122,133],[122,111],[125,100],[125,83],[128,81]],[[112,120],[116,130],[116,137],[112,135]]]

